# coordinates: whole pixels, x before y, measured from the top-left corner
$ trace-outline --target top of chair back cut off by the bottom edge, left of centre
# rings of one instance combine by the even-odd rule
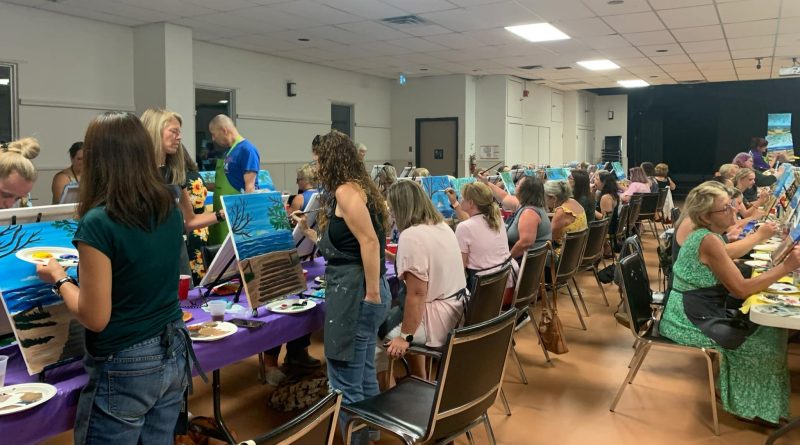
[[[289,422],[240,445],[331,445],[341,404],[342,393],[333,391]]]

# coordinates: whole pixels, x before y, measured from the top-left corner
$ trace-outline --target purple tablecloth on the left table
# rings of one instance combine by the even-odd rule
[[[314,285],[313,279],[325,271],[324,261],[318,258],[313,262],[303,264],[303,267],[308,270],[308,286],[311,288]],[[192,292],[190,300],[199,295],[198,290]],[[244,295],[242,295],[241,302],[244,306],[247,305]],[[195,342],[193,346],[200,366],[210,374],[215,369],[321,329],[324,321],[324,308],[325,304],[322,302],[310,311],[292,315],[274,314],[260,308],[255,319],[267,323],[261,328],[252,331],[239,329],[230,337],[215,342]],[[185,308],[184,310],[191,312],[194,317],[188,322],[189,324],[211,319],[211,316],[202,309]],[[251,314],[248,312],[246,316],[239,316],[239,318],[254,318],[251,317]],[[226,320],[230,318],[234,317],[229,314],[225,316]],[[6,371],[6,385],[37,381],[38,376],[28,375],[25,362],[16,345],[0,349],[0,355],[10,357]],[[56,396],[47,403],[30,410],[0,416],[0,438],[2,438],[0,442],[9,444],[38,443],[72,429],[78,395],[87,381],[83,366],[80,362],[70,363],[48,371],[46,376],[47,383],[55,385],[58,389]]]

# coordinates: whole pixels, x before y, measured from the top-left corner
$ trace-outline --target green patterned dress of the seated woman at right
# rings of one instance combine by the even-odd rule
[[[711,269],[700,262],[700,243],[708,229],[692,232],[673,266],[673,289],[659,329],[665,337],[684,345],[720,352],[719,378],[722,407],[739,417],[778,423],[789,417],[789,370],[786,365],[787,331],[761,326],[736,349],[724,349],[708,338],[687,317],[682,291],[719,284]]]

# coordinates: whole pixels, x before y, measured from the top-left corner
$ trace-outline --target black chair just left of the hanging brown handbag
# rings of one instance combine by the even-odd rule
[[[539,340],[539,346],[542,347],[542,353],[548,363],[550,361],[550,354],[547,348],[544,347],[542,336],[539,333],[539,324],[533,316],[533,306],[536,304],[536,299],[539,296],[539,291],[544,283],[544,271],[547,265],[547,253],[551,248],[549,243],[544,244],[536,249],[529,250],[528,253],[522,257],[522,265],[519,268],[519,275],[517,275],[517,284],[514,288],[514,308],[520,314],[527,313],[530,317],[533,331],[536,333],[536,338]],[[515,334],[516,335],[516,332]],[[522,368],[522,363],[517,356],[516,344],[511,342],[511,352],[514,360],[519,368],[519,374],[522,378],[522,383],[528,384],[528,378],[525,376],[525,370]]]

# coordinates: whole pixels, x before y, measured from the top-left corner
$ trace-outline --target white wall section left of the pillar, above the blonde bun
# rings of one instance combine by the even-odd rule
[[[36,136],[36,205],[67,149],[106,110],[134,111],[131,28],[0,3],[0,60],[18,64],[19,135]]]

